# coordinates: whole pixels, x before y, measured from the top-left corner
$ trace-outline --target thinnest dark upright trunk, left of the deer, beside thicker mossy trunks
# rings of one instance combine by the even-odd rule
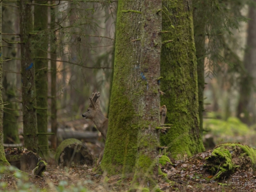
[[[52,4],[55,3],[52,1]],[[54,31],[55,28],[55,8],[51,7],[51,30]],[[57,98],[56,98],[56,73],[57,73],[57,66],[56,61],[56,45],[55,45],[55,33],[51,35],[51,96],[52,96],[52,103],[51,103],[51,129],[54,135],[51,136],[52,148],[57,149]]]

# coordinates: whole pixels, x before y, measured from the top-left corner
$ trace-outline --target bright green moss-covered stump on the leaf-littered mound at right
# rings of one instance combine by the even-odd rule
[[[225,143],[214,148],[205,158],[214,179],[225,179],[237,169],[256,169],[256,149],[239,143]]]

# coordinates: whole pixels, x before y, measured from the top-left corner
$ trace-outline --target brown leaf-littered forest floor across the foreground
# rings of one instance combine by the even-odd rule
[[[167,175],[158,176],[158,185],[160,189],[166,192],[255,192],[256,191],[256,173],[251,169],[252,165],[246,164],[247,168],[236,170],[231,175],[226,175],[222,180],[215,180],[214,175],[210,174],[207,168],[205,158],[211,155],[212,150],[196,154],[187,160],[167,162],[161,166],[161,171]],[[247,162],[248,163],[248,162]],[[105,177],[105,174],[99,174],[93,171],[93,167],[71,166],[66,169],[56,168],[56,165],[48,165],[43,177],[35,177],[32,171],[26,171],[28,174],[27,182],[35,185],[37,188],[47,191],[75,191],[79,186],[86,187],[88,191],[127,191],[132,177],[120,177],[119,175]],[[167,176],[167,177],[166,177]],[[6,189],[17,190],[17,178],[2,177],[1,181],[8,183]],[[58,190],[55,186],[59,186]],[[69,190],[70,188],[70,190]],[[65,189],[65,190],[64,190]],[[82,190],[77,190],[82,191]]]

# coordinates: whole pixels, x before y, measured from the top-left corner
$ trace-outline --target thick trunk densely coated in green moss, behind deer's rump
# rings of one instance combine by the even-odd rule
[[[199,128],[198,84],[191,1],[163,0],[161,49],[161,105],[168,109],[165,123],[173,124],[162,145],[175,159],[204,151]]]

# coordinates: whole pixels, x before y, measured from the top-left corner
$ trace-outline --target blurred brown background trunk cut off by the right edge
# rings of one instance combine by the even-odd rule
[[[254,0],[256,2],[256,0]],[[256,8],[249,8],[247,48],[244,54],[244,68],[246,74],[240,82],[240,99],[238,104],[238,118],[242,122],[252,125],[256,123]]]

